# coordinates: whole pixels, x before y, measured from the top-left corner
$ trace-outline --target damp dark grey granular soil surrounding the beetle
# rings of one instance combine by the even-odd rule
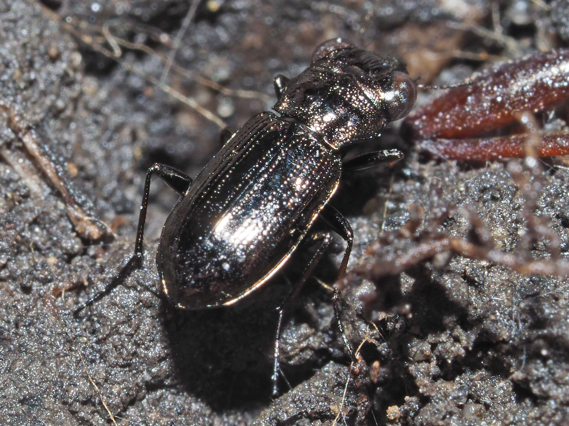
[[[348,273],[345,331],[354,346],[374,340],[356,365],[331,294],[309,280],[285,316],[286,380],[271,398],[276,308],[310,251],[233,306],[176,310],[154,261],[176,196],[158,179],[143,268],[72,315],[131,256],[146,169],[163,162],[195,176],[220,147],[220,126],[172,92],[236,130],[273,105],[276,74],[298,74],[331,37],[394,53],[412,77],[446,84],[563,47],[569,32],[563,1],[201,3],[163,76],[188,2],[0,1],[0,423],[565,424],[566,281],[453,254],[376,281]],[[219,93],[184,73],[255,93]],[[562,128],[563,118],[544,119]],[[501,250],[519,252],[526,198],[506,162],[425,158],[397,123],[373,144],[406,158],[347,176],[335,196],[354,228],[349,271],[374,262],[366,248],[418,207],[428,221],[442,205],[472,206]],[[569,172],[563,159],[542,169],[535,215],[549,218],[563,257]],[[454,236],[469,229],[461,216],[440,223]],[[529,249],[549,256],[547,241]],[[332,284],[343,250],[338,237],[315,276]]]

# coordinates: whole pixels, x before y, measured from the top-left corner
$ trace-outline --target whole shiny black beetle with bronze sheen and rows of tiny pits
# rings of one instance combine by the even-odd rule
[[[401,153],[372,152],[345,162],[341,157],[407,115],[415,83],[393,57],[341,39],[321,44],[298,77],[277,76],[274,83],[276,114],[262,112],[245,123],[195,182],[170,166],[148,170],[134,256],[76,313],[141,265],[154,174],[181,197],[164,224],[156,256],[164,294],[176,307],[211,308],[248,295],[281,268],[319,216],[348,243],[339,272],[344,274],[353,233],[344,216],[327,205],[342,169],[394,161]],[[312,233],[311,238],[320,244],[314,264],[330,237]],[[275,361],[274,379],[276,374]]]

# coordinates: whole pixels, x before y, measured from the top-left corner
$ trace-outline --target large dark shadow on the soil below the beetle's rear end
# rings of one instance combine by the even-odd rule
[[[180,381],[214,410],[270,401],[277,307],[291,286],[277,275],[237,303],[203,311],[164,305]]]

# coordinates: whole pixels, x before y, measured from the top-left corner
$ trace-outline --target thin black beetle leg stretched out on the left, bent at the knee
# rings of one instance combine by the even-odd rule
[[[75,311],[73,315],[79,314],[84,308],[92,305],[97,300],[101,299],[103,296],[108,294],[114,287],[119,285],[134,268],[140,268],[142,261],[144,259],[144,248],[143,248],[143,237],[144,237],[144,226],[146,223],[146,210],[148,208],[148,198],[150,194],[150,183],[152,182],[152,176],[158,176],[164,182],[168,184],[178,195],[183,195],[185,191],[192,185],[192,179],[186,176],[180,170],[175,169],[171,166],[165,164],[155,163],[146,172],[146,181],[142,194],[142,202],[140,215],[138,216],[138,228],[137,228],[137,238],[134,245],[134,254],[127,262],[125,266],[121,269],[116,277],[110,281],[105,288],[94,294],[89,300],[81,304]]]

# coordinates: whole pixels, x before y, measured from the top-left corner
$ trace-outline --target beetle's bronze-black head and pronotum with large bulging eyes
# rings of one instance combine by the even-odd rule
[[[377,136],[409,114],[416,97],[403,62],[332,39],[316,48],[310,67],[283,87],[273,108],[340,148]]]

